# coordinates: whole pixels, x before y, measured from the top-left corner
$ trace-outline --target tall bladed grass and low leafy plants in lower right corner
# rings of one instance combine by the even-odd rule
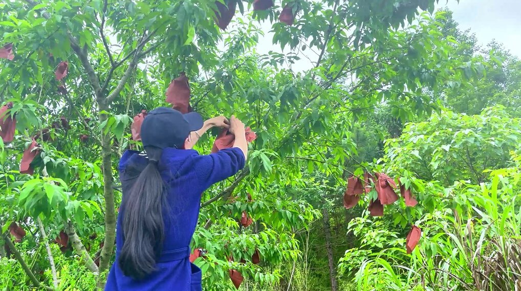
[[[519,274],[516,262],[521,255],[521,177],[517,167],[493,171],[485,184],[454,188],[455,200],[458,196],[467,199],[457,200],[462,201],[462,210],[440,207],[418,220],[422,239],[411,255],[400,246],[403,239],[384,237],[382,249],[378,240],[364,233],[362,241],[366,242],[346,251],[340,270],[356,271],[353,280],[358,290],[415,286],[428,290],[514,289]],[[356,231],[363,224],[353,222],[351,227]],[[385,232],[378,230],[380,240]],[[371,246],[378,247],[377,252],[366,249]]]

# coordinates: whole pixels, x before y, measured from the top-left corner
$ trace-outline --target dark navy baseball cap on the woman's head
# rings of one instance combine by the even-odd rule
[[[203,117],[196,112],[182,114],[167,108],[156,108],[146,115],[141,125],[143,147],[178,148],[184,145],[190,131],[203,127]]]

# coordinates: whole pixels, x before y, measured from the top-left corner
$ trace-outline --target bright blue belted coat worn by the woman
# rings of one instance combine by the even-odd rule
[[[119,162],[122,200],[132,181],[146,166],[148,159],[137,151],[126,151]],[[195,150],[167,148],[158,167],[168,189],[169,209],[165,209],[165,242],[157,260],[157,270],[144,280],[125,276],[118,264],[124,234],[120,209],[116,227],[116,261],[110,269],[105,290],[176,290],[201,291],[201,270],[189,260],[190,242],[195,231],[201,194],[212,184],[235,175],[244,167],[239,148],[199,155]]]

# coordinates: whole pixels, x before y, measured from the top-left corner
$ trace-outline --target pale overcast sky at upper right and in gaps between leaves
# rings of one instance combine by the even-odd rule
[[[460,0],[460,3],[456,0],[440,0],[437,4],[438,8],[445,6],[454,12],[453,17],[460,24],[460,29],[470,28],[481,44],[495,39],[513,55],[521,58],[521,0]],[[264,22],[261,28],[265,35],[259,38],[259,54],[267,54],[270,50],[281,52],[279,45],[272,45],[273,34],[269,33],[271,24]],[[317,59],[309,50],[306,50],[306,55],[312,61]],[[305,71],[313,68],[313,64],[301,57],[291,68],[294,71]]]

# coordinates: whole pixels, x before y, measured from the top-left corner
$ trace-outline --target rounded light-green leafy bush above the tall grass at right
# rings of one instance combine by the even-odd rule
[[[486,169],[509,165],[510,150],[520,140],[521,120],[501,106],[473,116],[443,111],[407,124],[399,138],[388,139],[383,162],[393,172],[405,169],[445,186],[465,179],[480,183]]]

